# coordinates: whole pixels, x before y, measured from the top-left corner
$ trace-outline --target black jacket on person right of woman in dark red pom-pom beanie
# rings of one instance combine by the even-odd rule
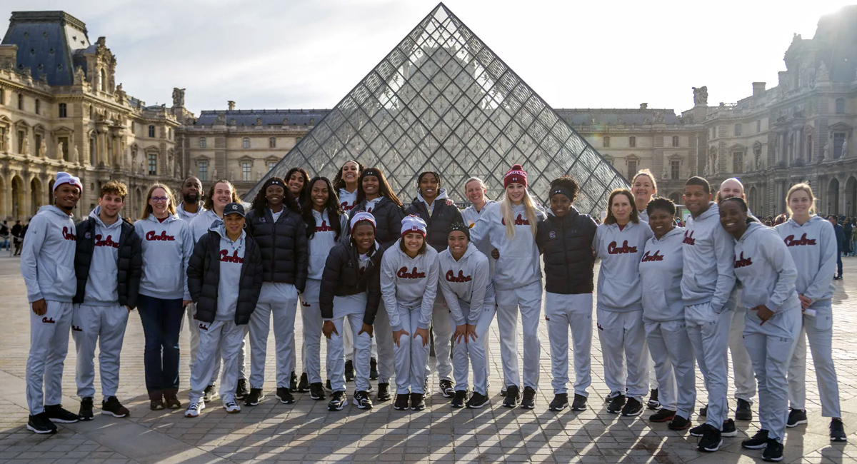
[[[566,217],[548,217],[538,223],[536,244],[544,253],[544,289],[553,294],[592,293],[595,257],[592,241],[597,224],[573,206]]]

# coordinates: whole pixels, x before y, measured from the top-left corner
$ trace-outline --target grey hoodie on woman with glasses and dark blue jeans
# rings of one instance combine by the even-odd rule
[[[195,241],[188,223],[177,214],[163,223],[150,214],[134,223],[134,229],[143,251],[140,294],[163,300],[190,300],[188,261],[194,253]]]

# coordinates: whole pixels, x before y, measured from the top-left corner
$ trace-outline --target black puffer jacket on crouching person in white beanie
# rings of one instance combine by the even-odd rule
[[[363,272],[360,271],[360,257],[357,255],[357,247],[351,241],[337,243],[330,250],[324,265],[321,289],[319,290],[319,307],[321,307],[322,318],[333,318],[334,296],[368,292],[363,322],[370,325],[375,323],[375,314],[378,313],[378,305],[381,304],[381,257],[386,249],[386,246],[381,245],[379,249],[375,250]]]

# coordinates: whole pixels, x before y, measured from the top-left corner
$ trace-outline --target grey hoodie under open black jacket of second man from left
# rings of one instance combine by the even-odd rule
[[[94,306],[116,305],[119,301],[116,274],[122,217],[117,217],[117,221],[111,225],[105,225],[99,217],[100,212],[101,206],[95,206],[89,213],[89,217],[95,219],[95,247],[83,302]]]

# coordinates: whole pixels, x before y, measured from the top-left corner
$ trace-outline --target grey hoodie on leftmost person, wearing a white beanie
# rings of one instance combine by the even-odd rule
[[[42,206],[33,216],[21,248],[21,276],[31,303],[43,298],[70,303],[75,297],[75,232],[75,221],[57,206]]]

